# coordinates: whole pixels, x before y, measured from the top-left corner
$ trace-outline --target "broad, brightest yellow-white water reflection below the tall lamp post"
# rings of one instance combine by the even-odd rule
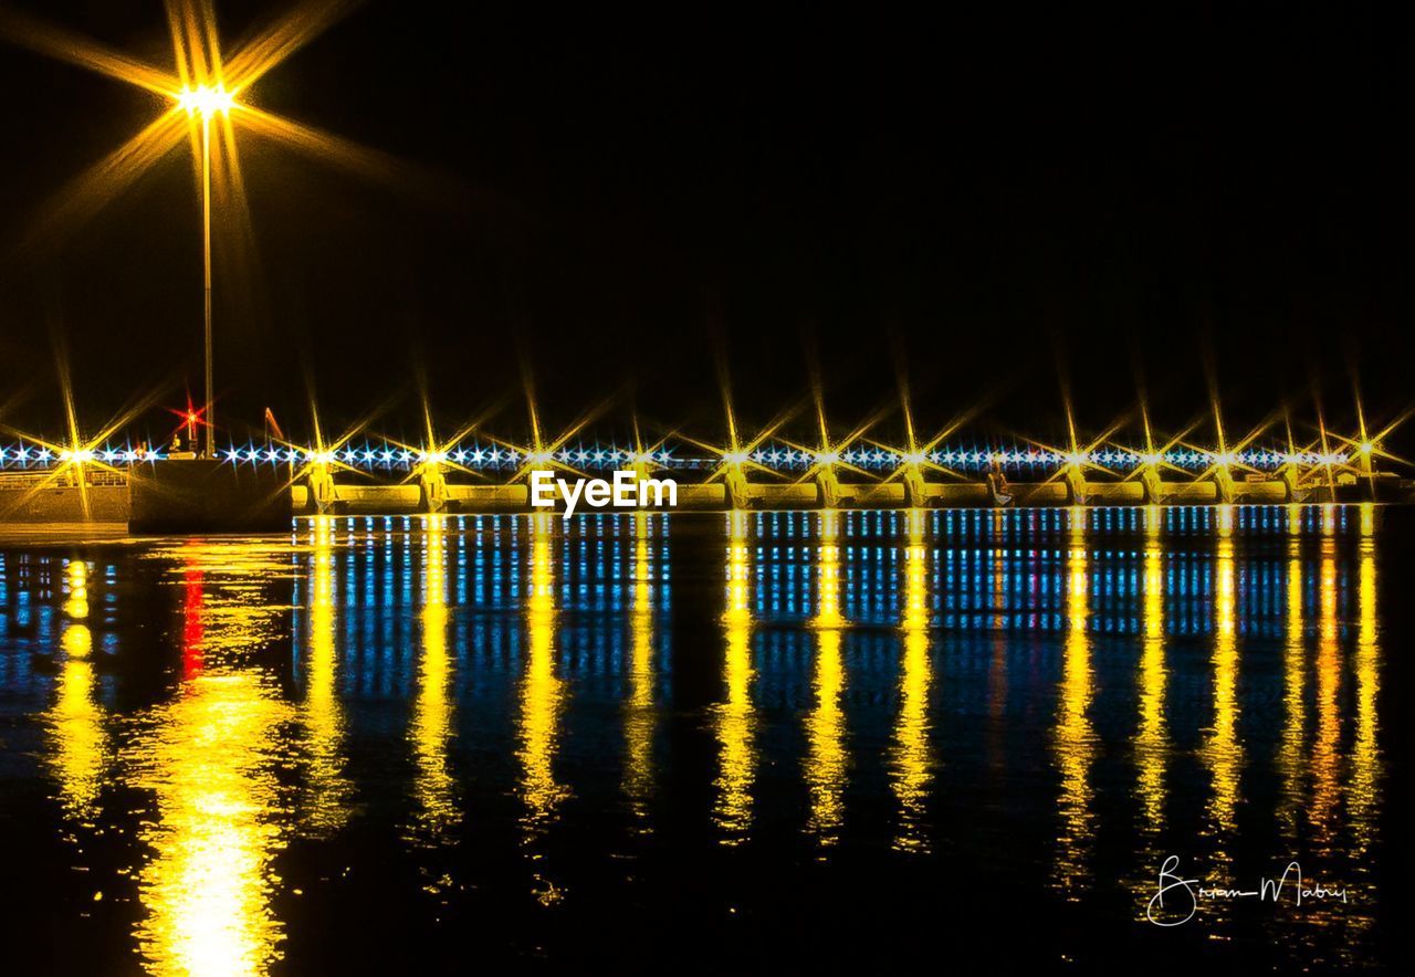
[[[185,550],[188,570],[231,580],[232,601],[212,608],[198,591],[205,646],[188,650],[202,667],[144,718],[130,748],[129,786],[156,797],[140,831],[150,857],[137,874],[137,952],[158,974],[260,973],[284,939],[272,898],[290,810],[276,768],[296,715],[272,676],[239,660],[260,648],[275,614],[245,592],[253,581],[243,573],[269,564],[239,544]]]

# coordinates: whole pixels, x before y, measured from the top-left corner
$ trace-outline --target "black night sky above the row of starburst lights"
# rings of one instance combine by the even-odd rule
[[[228,49],[283,8],[218,7]],[[1374,420],[1409,406],[1404,30],[1365,4],[1067,7],[867,25],[364,4],[249,98],[398,175],[242,140],[258,264],[238,277],[218,247],[224,420],[270,404],[300,428],[313,376],[335,427],[386,403],[398,434],[423,369],[443,423],[505,400],[492,427],[516,434],[519,349],[552,427],[633,386],[651,423],[710,437],[715,345],[749,424],[808,392],[814,346],[843,430],[896,397],[891,337],[923,428],[990,397],[979,430],[1056,437],[1058,362],[1099,428],[1139,361],[1173,430],[1206,410],[1206,349],[1235,428],[1283,396],[1312,416],[1315,380],[1348,421],[1353,368]],[[158,3],[34,10],[170,64]],[[14,250],[161,107],[0,51],[16,426],[58,428],[55,334],[89,423],[200,385],[185,150],[57,247]]]

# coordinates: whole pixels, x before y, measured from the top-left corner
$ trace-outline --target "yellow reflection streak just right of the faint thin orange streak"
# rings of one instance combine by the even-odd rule
[[[1065,645],[1061,650],[1061,689],[1054,735],[1056,762],[1061,775],[1057,810],[1061,816],[1053,885],[1068,901],[1078,901],[1090,888],[1090,853],[1095,834],[1091,810],[1091,762],[1095,759],[1095,730],[1090,708],[1094,694],[1091,636],[1087,631],[1088,570],[1085,510],[1070,513],[1071,546],[1067,556]]]

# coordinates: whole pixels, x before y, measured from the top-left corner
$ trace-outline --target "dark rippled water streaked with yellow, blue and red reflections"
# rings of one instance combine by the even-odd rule
[[[6,953],[1382,964],[1402,515],[0,543]],[[1197,881],[1159,906],[1169,855]],[[1292,861],[1302,905],[1290,874],[1276,901],[1187,898]]]

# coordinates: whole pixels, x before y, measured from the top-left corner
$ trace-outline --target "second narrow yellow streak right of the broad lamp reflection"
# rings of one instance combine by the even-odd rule
[[[460,820],[456,779],[447,758],[453,735],[453,674],[447,650],[446,516],[423,517],[422,659],[408,738],[413,748],[413,840],[436,844]]]

